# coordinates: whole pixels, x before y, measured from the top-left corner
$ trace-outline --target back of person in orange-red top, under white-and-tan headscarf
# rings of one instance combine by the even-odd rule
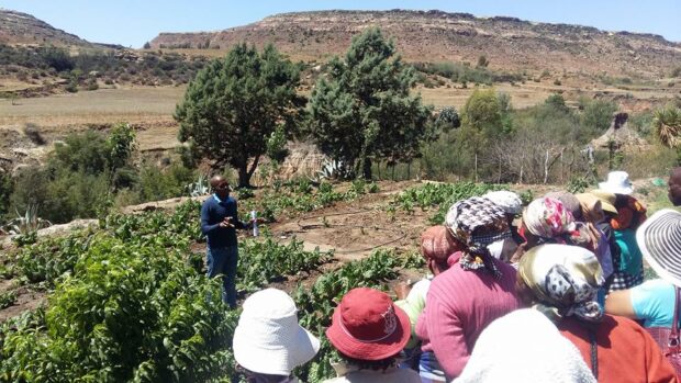
[[[673,368],[655,340],[635,322],[621,316],[604,315],[595,327],[589,327],[590,325],[567,317],[558,324],[558,329],[577,346],[592,370],[590,337],[591,334],[595,336],[599,382],[678,382]]]

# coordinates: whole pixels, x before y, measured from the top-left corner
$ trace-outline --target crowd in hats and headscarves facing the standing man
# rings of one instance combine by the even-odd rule
[[[456,202],[422,235],[428,277],[394,302],[357,288],[336,306],[327,382],[678,382],[681,213],[648,217],[633,191],[614,171],[525,207],[510,191]],[[669,199],[681,205],[681,168]],[[294,381],[319,348],[284,292],[244,302],[234,357],[248,381]]]

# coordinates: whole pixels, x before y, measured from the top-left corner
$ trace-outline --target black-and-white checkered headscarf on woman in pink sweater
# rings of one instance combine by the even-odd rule
[[[487,245],[511,236],[503,209],[488,199],[473,196],[451,205],[445,225],[465,247],[459,259],[464,270],[484,269],[501,278]]]

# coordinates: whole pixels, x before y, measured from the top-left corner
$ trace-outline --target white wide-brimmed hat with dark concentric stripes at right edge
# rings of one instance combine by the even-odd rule
[[[644,258],[663,280],[681,288],[681,213],[663,209],[636,230]]]

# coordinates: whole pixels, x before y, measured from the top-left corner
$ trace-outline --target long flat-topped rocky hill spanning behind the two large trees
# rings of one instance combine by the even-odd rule
[[[605,32],[514,18],[476,18],[442,11],[315,11],[283,13],[217,32],[161,33],[153,48],[228,48],[248,42],[275,44],[294,59],[324,60],[342,54],[353,35],[377,25],[410,61],[469,61],[484,55],[506,70],[663,77],[681,61],[681,43],[654,34]]]

